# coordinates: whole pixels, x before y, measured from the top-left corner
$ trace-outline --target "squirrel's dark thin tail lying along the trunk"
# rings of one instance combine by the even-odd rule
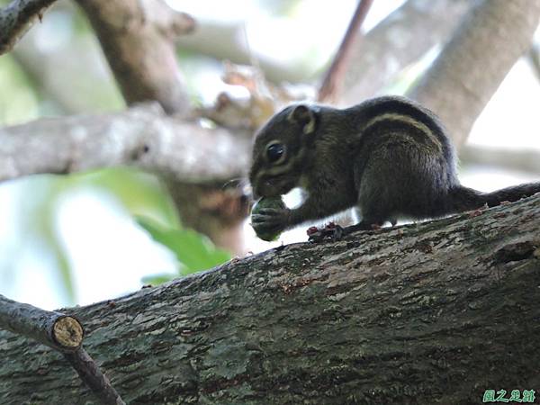
[[[481,208],[485,204],[488,207],[494,207],[500,202],[515,202],[539,192],[540,182],[512,185],[492,193],[482,193],[459,184],[450,190],[450,211],[471,211]]]

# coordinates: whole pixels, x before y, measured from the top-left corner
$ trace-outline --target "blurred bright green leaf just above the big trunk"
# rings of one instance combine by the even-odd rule
[[[228,252],[215,247],[209,238],[192,229],[165,228],[144,217],[137,217],[137,222],[154,240],[175,254],[182,265],[181,275],[206,270],[230,259]]]

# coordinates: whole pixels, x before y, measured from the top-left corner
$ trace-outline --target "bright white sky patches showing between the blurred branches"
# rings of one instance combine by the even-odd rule
[[[249,45],[254,52],[273,55],[288,62],[298,58],[305,47],[305,38],[317,44],[313,58],[322,63],[335,49],[355,8],[355,0],[341,0],[332,3],[332,18],[327,6],[320,1],[306,2],[295,13],[292,21],[275,21],[272,15],[257,7],[252,0],[217,2],[202,0],[169,1],[195,18],[220,21],[247,21],[246,30]],[[365,22],[369,29],[380,21],[402,1],[374,2]],[[43,26],[47,26],[47,16]],[[324,23],[325,30],[320,30]],[[221,88],[212,81],[208,86],[208,99],[212,99]],[[476,122],[470,142],[500,148],[540,148],[540,84],[525,61],[520,61],[500,86],[500,91]],[[509,134],[511,136],[509,136]],[[481,190],[493,190],[509,184],[517,184],[540,177],[540,174],[524,175],[501,171],[472,169],[462,175],[465,185]],[[0,186],[0,259],[14,255],[14,195],[18,192],[18,182]],[[76,277],[78,303],[105,300],[139,289],[142,276],[173,272],[173,256],[153,243],[147,234],[137,228],[120,204],[108,194],[94,190],[79,190],[71,193],[61,202],[58,210],[58,232],[68,245],[70,261]],[[103,224],[107,229],[103,230]],[[301,227],[284,233],[275,243],[267,243],[254,238],[253,230],[246,225],[247,250],[258,252],[281,243],[306,240],[305,229]],[[24,238],[24,235],[18,235]],[[45,309],[63,305],[65,297],[58,294],[56,272],[51,270],[51,260],[44,254],[36,255],[35,245],[26,245],[19,255],[16,268],[10,272],[14,288],[4,290],[6,281],[0,278],[0,293],[14,300],[31,302]],[[5,273],[5,272],[4,272]],[[2,274],[0,274],[2,277]],[[5,275],[4,275],[5,277]]]

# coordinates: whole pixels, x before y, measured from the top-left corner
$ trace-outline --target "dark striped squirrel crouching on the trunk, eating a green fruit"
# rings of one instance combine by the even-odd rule
[[[334,238],[398,218],[426,219],[540,192],[540,182],[482,193],[459,183],[455,150],[437,116],[400,96],[347,109],[298,104],[258,131],[249,181],[254,198],[301,187],[298,208],[266,208],[254,228],[281,232],[356,207],[359,223]],[[328,236],[328,235],[327,235]]]

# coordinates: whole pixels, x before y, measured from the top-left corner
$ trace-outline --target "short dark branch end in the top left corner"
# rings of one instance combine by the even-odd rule
[[[0,55],[9,52],[56,0],[13,0],[0,10]]]

